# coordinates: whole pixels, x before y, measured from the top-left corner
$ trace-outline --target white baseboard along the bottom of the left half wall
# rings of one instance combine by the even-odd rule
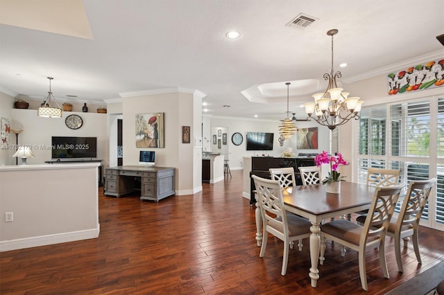
[[[99,237],[99,233],[100,224],[97,224],[96,229],[87,229],[85,231],[72,231],[70,233],[56,233],[54,235],[40,235],[32,238],[0,241],[0,252],[65,242],[74,242],[79,240],[89,240]]]

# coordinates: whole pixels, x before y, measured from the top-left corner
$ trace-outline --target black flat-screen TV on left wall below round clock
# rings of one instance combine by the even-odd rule
[[[97,157],[96,137],[52,136],[53,159],[78,159]]]

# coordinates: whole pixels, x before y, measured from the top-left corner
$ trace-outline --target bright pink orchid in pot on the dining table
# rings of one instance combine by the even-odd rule
[[[341,173],[338,172],[339,166],[347,166],[348,163],[339,152],[336,156],[329,156],[327,152],[323,151],[321,154],[314,157],[316,166],[321,167],[322,164],[330,164],[330,171],[328,176],[323,179],[322,184],[326,184],[325,190],[327,193],[339,194],[341,192],[341,181],[345,181]]]

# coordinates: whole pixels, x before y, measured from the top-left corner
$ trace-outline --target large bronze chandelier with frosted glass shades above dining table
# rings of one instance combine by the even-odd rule
[[[332,29],[327,35],[332,36],[332,71],[323,75],[324,80],[328,80],[327,90],[324,93],[316,93],[313,95],[314,102],[304,104],[305,112],[308,115],[307,120],[313,118],[319,124],[327,126],[330,130],[336,126],[343,125],[351,118],[359,119],[359,111],[361,111],[362,100],[358,97],[348,98],[350,93],[342,92],[342,88],[338,88],[336,78],[341,78],[341,72],[334,73],[333,69],[333,36],[338,30]],[[314,116],[312,116],[314,114]]]

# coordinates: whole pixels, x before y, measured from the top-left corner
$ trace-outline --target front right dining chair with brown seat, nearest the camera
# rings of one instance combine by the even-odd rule
[[[350,220],[334,220],[323,224],[321,226],[321,257],[319,258],[321,265],[325,259],[325,239],[357,251],[361,286],[367,291],[366,249],[376,246],[379,248],[379,263],[384,278],[389,278],[384,241],[391,215],[403,187],[404,184],[376,188],[364,226]]]

